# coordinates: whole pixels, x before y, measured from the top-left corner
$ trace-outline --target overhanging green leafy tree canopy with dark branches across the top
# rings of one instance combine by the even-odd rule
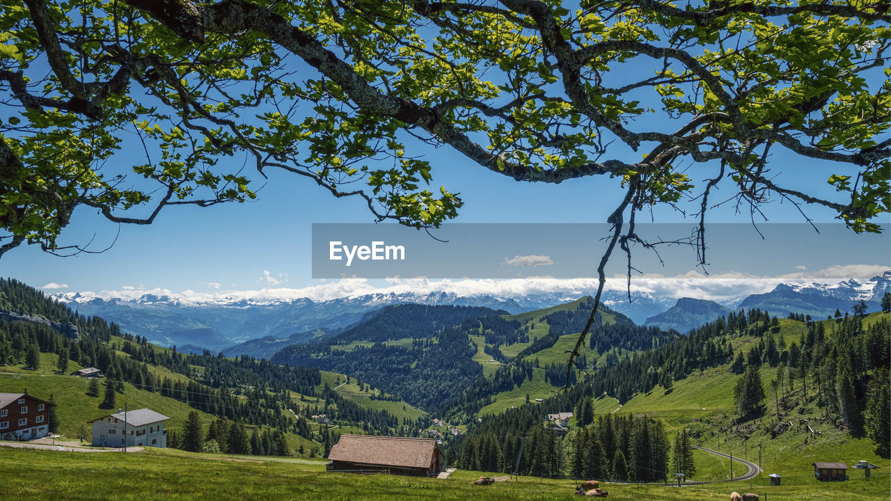
[[[703,211],[723,181],[745,203],[818,204],[876,231],[891,177],[883,4],[4,2],[0,251],[63,251],[80,206],[149,224],[171,205],[249,200],[264,169],[437,226],[462,200],[429,185],[423,144],[520,181],[618,177],[623,210],[680,200],[702,163]],[[776,180],[781,150],[837,162],[838,196]]]

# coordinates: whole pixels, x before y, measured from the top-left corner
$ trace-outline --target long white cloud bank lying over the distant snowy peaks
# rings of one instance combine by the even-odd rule
[[[731,303],[750,294],[770,292],[777,284],[827,284],[834,286],[842,281],[854,279],[867,281],[887,271],[887,266],[880,265],[845,265],[828,267],[821,270],[806,270],[797,267],[793,272],[783,275],[752,275],[743,273],[723,273],[705,275],[691,271],[684,275],[633,275],[631,292],[651,296],[683,298],[692,297],[703,300],[714,300],[719,303]],[[495,298],[517,298],[533,294],[558,293],[578,297],[597,290],[597,278],[556,279],[548,276],[535,276],[506,280],[430,280],[425,277],[402,278],[391,277],[387,280],[368,280],[364,278],[345,277],[337,281],[317,281],[313,285],[299,288],[276,287],[279,282],[272,274],[266,275],[273,281],[258,290],[225,291],[219,290],[218,283],[204,283],[207,292],[185,290],[173,292],[168,289],[147,289],[143,286],[124,285],[114,291],[82,291],[57,292],[56,297],[77,302],[86,302],[92,298],[102,300],[140,300],[145,297],[165,298],[181,303],[233,303],[277,302],[307,298],[314,301],[356,298],[370,294],[429,294],[430,292],[454,293],[458,296],[489,295]],[[627,278],[625,275],[614,275],[607,279],[609,291],[625,291]],[[48,284],[50,285],[50,284]],[[57,285],[53,283],[52,285]],[[50,287],[45,287],[49,289]]]

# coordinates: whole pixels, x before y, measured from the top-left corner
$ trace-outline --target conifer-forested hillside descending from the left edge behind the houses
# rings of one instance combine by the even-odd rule
[[[69,415],[69,407],[88,409],[96,405],[89,402],[98,403],[98,408],[93,407],[95,415],[78,415],[78,422],[114,412],[127,398],[157,402],[167,398],[183,402],[201,415],[216,416],[214,426],[208,429],[208,439],[214,439],[217,447],[223,444],[224,452],[232,446],[239,448],[234,452],[280,455],[293,452],[290,446],[282,448],[284,435],[292,438],[290,443],[299,444],[303,449],[299,452],[307,454],[321,455],[330,448],[331,440],[336,442],[336,435],[327,431],[327,425],[315,423],[312,415],[325,415],[331,426],[339,423],[370,433],[405,433],[408,425],[413,427],[388,410],[363,407],[345,398],[323,383],[317,368],[277,365],[247,356],[227,358],[207,351],[185,355],[176,347],[161,348],[141,336],[121,333],[117,324],[102,318],[80,316],[14,280],[0,280],[0,304],[5,308],[0,311],[33,317],[0,319],[0,364],[8,367],[9,374],[2,376],[0,390],[21,391],[20,381],[27,384],[29,374],[41,371],[40,388],[55,389],[77,400],[57,400],[60,415]],[[77,337],[60,333],[53,322],[76,325]],[[53,360],[52,367],[45,365],[47,358]],[[83,393],[72,394],[69,386],[86,382],[67,373],[88,366],[105,374],[102,385],[91,383]],[[134,394],[129,396],[127,391]],[[157,397],[149,398],[150,394]],[[386,395],[381,394],[383,397]],[[64,427],[69,432],[78,429],[73,423],[64,423]],[[253,431],[252,447],[242,447],[250,440],[226,439],[247,431]],[[183,445],[180,439],[181,435],[171,431],[171,446]]]

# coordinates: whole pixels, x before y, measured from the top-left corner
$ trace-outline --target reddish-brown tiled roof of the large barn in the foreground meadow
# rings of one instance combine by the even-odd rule
[[[435,450],[437,441],[434,439],[344,434],[340,435],[338,443],[331,448],[328,459],[426,469],[433,462]]]

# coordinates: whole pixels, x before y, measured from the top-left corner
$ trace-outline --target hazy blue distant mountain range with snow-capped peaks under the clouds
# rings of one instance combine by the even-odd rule
[[[858,282],[836,284],[777,285],[771,292],[753,294],[739,300],[712,301],[660,297],[634,292],[628,301],[625,292],[605,291],[603,304],[630,317],[635,324],[652,324],[686,333],[692,328],[739,308],[760,308],[772,315],[790,312],[825,317],[849,311],[854,302],[863,300],[869,311],[877,311],[885,292],[891,291],[891,271]],[[429,306],[472,306],[503,309],[518,314],[576,300],[591,291],[546,292],[526,296],[496,298],[491,295],[458,296],[452,292],[429,294],[380,293],[352,298],[314,301],[297,300],[217,300],[185,302],[176,297],[145,294],[136,300],[102,299],[79,293],[60,293],[53,297],[85,315],[98,315],[117,322],[127,332],[140,334],[162,346],[187,349],[247,349],[242,353],[268,355],[274,347],[306,342],[331,332],[347,329],[363,316],[396,304]],[[726,308],[726,309],[722,309]],[[324,333],[320,329],[327,329]],[[243,344],[245,341],[257,342]],[[236,348],[235,345],[240,345]]]

